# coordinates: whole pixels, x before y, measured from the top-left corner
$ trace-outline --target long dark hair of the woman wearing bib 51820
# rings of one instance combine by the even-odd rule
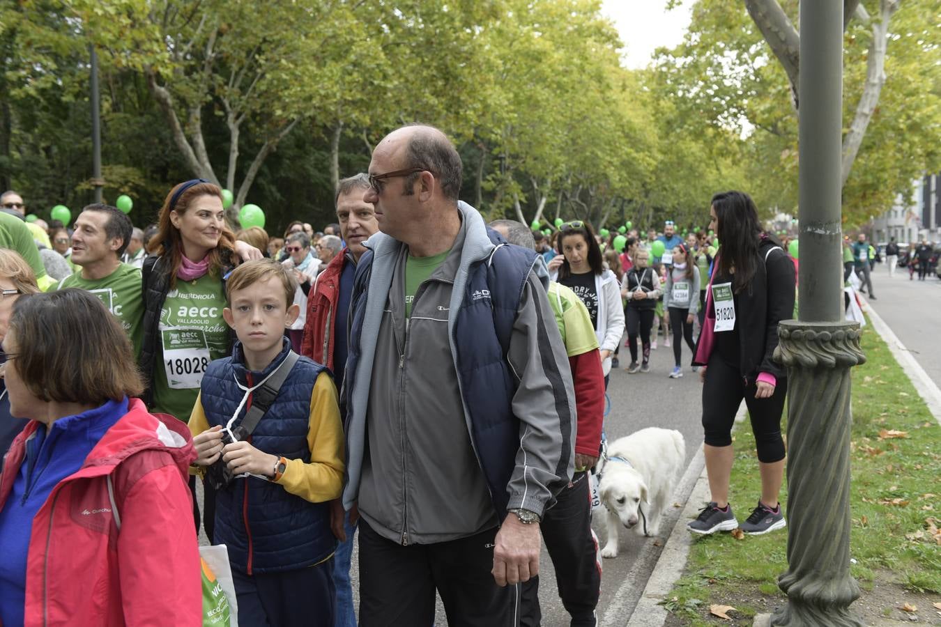
[[[715,210],[715,234],[722,243],[716,255],[716,270],[719,274],[732,275],[732,287],[736,292],[751,286],[758,272],[758,243],[761,224],[758,208],[751,196],[744,192],[723,192],[712,196]],[[735,268],[735,274],[731,274]]]

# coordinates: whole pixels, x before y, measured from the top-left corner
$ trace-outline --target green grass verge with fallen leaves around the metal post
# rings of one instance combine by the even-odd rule
[[[931,494],[941,493],[941,427],[871,325],[861,344],[868,361],[852,373],[851,572],[864,597],[877,585],[941,593],[941,494]],[[734,446],[730,494],[741,521],[760,488],[747,422],[736,430]],[[781,502],[787,502],[786,488]],[[667,624],[729,624],[710,614],[713,604],[734,606],[733,624],[751,624],[756,614],[784,603],[777,576],[787,569],[787,541],[784,530],[694,541],[686,570],[664,603],[672,615]]]

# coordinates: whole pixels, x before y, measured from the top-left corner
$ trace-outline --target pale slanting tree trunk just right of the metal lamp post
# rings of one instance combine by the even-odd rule
[[[888,47],[888,23],[892,14],[899,8],[899,0],[881,0],[879,3],[879,19],[872,23],[872,41],[869,43],[869,58],[866,63],[866,85],[863,95],[859,97],[856,105],[856,114],[850,131],[843,138],[843,160],[840,164],[840,177],[842,184],[850,178],[853,161],[859,154],[859,147],[863,143],[866,129],[872,113],[879,104],[879,96],[885,85],[885,50]]]

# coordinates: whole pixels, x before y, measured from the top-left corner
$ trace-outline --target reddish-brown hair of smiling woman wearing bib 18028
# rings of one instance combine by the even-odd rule
[[[147,252],[154,255],[168,255],[170,258],[170,286],[176,285],[176,274],[183,264],[183,236],[180,229],[170,222],[170,212],[180,215],[189,209],[190,203],[199,196],[215,196],[222,201],[222,189],[210,182],[187,180],[173,187],[160,208],[159,230],[147,243]],[[209,251],[209,274],[219,276],[223,265],[231,263],[235,252],[235,235],[227,225],[222,226],[219,242]],[[199,259],[191,259],[198,261]]]

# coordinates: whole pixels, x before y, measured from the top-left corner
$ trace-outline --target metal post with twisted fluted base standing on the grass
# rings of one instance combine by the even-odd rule
[[[850,612],[850,368],[866,361],[843,314],[840,152],[843,3],[801,0],[800,313],[782,321],[788,367],[788,603],[773,625],[862,627]]]

